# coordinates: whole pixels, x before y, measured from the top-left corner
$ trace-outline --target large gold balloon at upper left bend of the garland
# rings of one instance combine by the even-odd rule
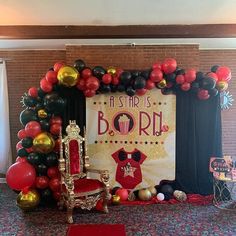
[[[57,74],[59,84],[66,87],[72,87],[76,85],[79,79],[79,72],[72,66],[63,66]]]

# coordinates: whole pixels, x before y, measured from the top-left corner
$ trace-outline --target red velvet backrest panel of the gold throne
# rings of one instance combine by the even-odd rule
[[[69,142],[69,156],[70,156],[70,174],[79,174],[80,172],[80,156],[79,144],[77,140]]]

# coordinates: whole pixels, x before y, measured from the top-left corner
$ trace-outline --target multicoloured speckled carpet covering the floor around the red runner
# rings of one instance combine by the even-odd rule
[[[17,194],[0,184],[0,235],[66,235],[65,211],[41,207],[23,213]],[[236,212],[210,205],[152,204],[110,206],[109,214],[76,211],[77,224],[124,224],[127,236],[236,235]]]

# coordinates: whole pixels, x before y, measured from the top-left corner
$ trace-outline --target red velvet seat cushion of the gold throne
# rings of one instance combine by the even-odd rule
[[[75,193],[86,193],[95,191],[97,189],[102,189],[104,184],[97,179],[78,179],[74,181],[75,184]],[[65,187],[63,186],[63,190]]]

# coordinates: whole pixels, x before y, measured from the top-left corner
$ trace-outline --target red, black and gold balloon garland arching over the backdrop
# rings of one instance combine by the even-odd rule
[[[116,91],[142,96],[157,88],[163,94],[190,92],[206,100],[225,91],[230,79],[231,72],[226,66],[215,65],[204,74],[177,67],[173,58],[156,62],[152,68],[142,71],[104,69],[102,66],[91,69],[81,59],[76,60],[73,67],[55,63],[41,79],[40,87],[31,87],[22,97],[26,108],[20,113],[24,128],[17,134],[20,140],[16,145],[18,157],[6,174],[9,187],[20,191],[18,206],[23,210],[33,209],[39,202],[60,198],[58,136],[66,101],[57,92],[58,86],[76,87],[85,97]]]

